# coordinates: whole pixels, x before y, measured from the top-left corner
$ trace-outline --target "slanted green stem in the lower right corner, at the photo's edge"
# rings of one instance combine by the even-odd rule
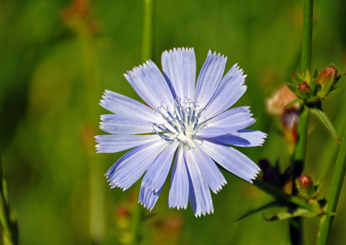
[[[338,205],[341,187],[344,181],[346,170],[346,125],[344,128],[341,145],[338,157],[335,163],[333,178],[331,179],[331,186],[329,191],[328,202],[325,211],[328,213],[335,213]],[[333,224],[334,216],[324,215],[320,220],[319,236],[317,238],[318,245],[327,244],[330,236],[331,225]]]

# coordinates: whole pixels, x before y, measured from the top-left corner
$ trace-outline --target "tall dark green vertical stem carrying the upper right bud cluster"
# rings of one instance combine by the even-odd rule
[[[302,72],[306,73],[311,66],[311,43],[312,43],[312,9],[313,0],[304,0],[304,19],[303,19],[303,43],[302,43]],[[293,178],[297,178],[304,171],[304,163],[306,156],[306,145],[309,125],[309,111],[300,105],[299,122],[298,122],[298,138],[297,147],[294,154],[293,162]],[[297,194],[293,182],[292,195]],[[290,235],[291,243],[294,245],[303,244],[302,218],[290,218]]]

